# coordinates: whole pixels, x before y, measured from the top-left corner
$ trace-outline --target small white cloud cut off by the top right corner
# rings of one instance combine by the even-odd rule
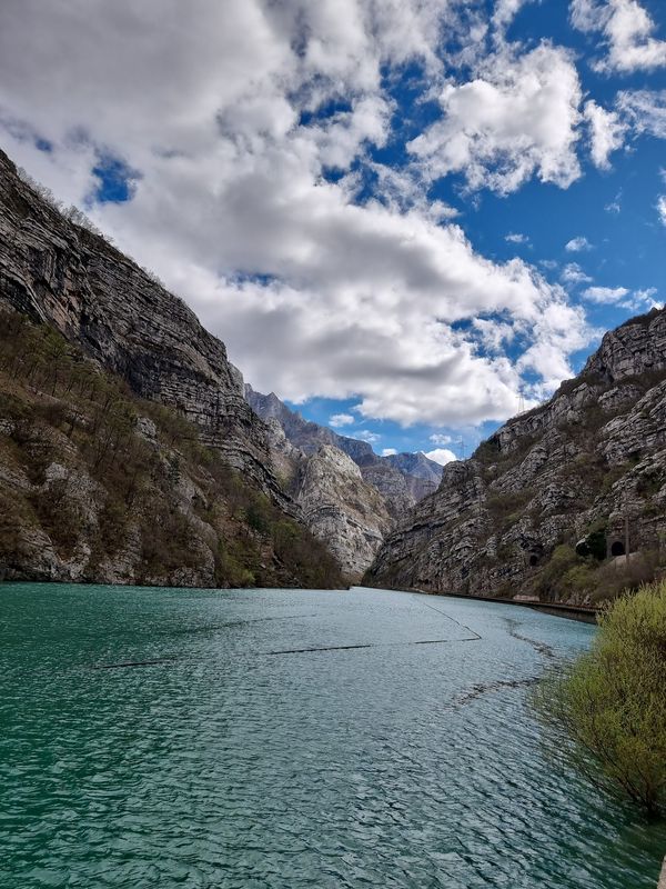
[[[666,66],[666,41],[653,37],[654,20],[637,0],[572,0],[572,23],[603,36],[606,56],[598,71],[630,73]]]

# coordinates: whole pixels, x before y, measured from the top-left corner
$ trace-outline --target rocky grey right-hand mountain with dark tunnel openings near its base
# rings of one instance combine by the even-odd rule
[[[589,603],[659,573],[665,540],[666,311],[655,309],[607,333],[549,401],[448,463],[366,579]]]

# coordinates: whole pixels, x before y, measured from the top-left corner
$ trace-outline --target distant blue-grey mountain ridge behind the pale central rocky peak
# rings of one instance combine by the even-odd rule
[[[363,479],[382,495],[394,519],[404,516],[406,510],[435,491],[442,479],[442,467],[424,453],[379,457],[366,441],[341,436],[305,420],[274,392],[264,396],[246,383],[245,398],[262,419],[278,420],[287,440],[304,453],[315,453],[322,444],[330,444],[351,457],[360,467]]]

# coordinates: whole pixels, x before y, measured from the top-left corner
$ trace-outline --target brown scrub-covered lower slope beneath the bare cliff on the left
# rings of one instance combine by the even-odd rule
[[[88,581],[121,565],[140,583],[341,583],[325,547],[195,426],[139,400],[49,326],[0,310],[0,569],[48,577],[30,568],[44,541]]]

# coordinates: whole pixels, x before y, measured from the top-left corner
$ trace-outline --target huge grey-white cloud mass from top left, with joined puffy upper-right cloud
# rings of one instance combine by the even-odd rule
[[[482,256],[424,193],[446,170],[500,192],[573,181],[569,56],[503,50],[444,88],[412,163],[369,157],[394,134],[385,72],[415,62],[441,84],[465,8],[6,0],[2,142],[182,294],[259,390],[357,397],[403,424],[502,420],[523,373],[572,376],[584,312],[528,263]],[[95,202],[103,158],[137,171],[131,200]],[[360,197],[362,173],[376,192]]]

